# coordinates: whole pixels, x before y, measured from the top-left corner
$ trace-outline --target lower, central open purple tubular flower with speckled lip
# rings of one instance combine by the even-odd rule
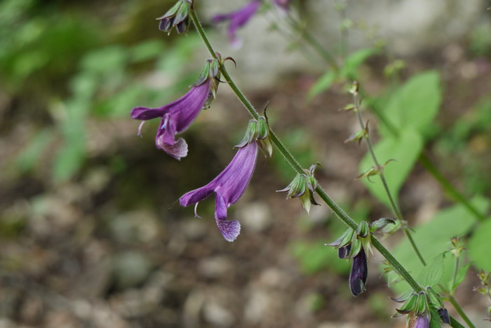
[[[241,232],[237,220],[227,221],[227,208],[241,198],[253,176],[257,158],[257,142],[238,149],[230,164],[209,184],[185,193],[179,202],[182,206],[196,204],[215,193],[215,220],[225,240],[234,241]],[[196,207],[194,207],[196,214]]]

